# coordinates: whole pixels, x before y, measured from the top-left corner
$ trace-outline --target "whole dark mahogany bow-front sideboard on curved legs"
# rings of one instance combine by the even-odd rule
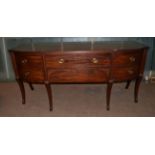
[[[148,47],[137,42],[68,42],[25,44],[9,50],[16,80],[25,104],[27,82],[45,84],[50,111],[53,110],[51,84],[105,83],[106,109],[110,109],[112,85],[135,80],[134,100],[143,77]]]

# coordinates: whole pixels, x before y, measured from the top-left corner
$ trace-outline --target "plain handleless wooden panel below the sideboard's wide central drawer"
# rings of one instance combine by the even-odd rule
[[[53,83],[95,83],[106,82],[109,78],[107,68],[48,69],[48,80]]]

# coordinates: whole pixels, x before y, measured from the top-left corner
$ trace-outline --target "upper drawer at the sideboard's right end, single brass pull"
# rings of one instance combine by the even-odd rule
[[[113,58],[114,66],[138,65],[142,58],[142,52],[118,52]]]

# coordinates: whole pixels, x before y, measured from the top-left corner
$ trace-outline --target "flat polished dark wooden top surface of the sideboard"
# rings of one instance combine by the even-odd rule
[[[65,42],[22,44],[9,51],[17,52],[54,52],[54,51],[97,51],[97,50],[133,50],[148,48],[144,44],[129,41],[113,42]]]

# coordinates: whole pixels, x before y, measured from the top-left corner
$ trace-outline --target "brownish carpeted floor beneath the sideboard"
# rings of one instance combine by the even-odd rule
[[[132,82],[115,84],[111,94],[111,109],[106,111],[106,85],[53,85],[54,109],[49,111],[44,85],[26,87],[26,105],[21,104],[18,85],[0,83],[0,116],[155,116],[155,84],[142,83],[139,102],[134,103]]]

